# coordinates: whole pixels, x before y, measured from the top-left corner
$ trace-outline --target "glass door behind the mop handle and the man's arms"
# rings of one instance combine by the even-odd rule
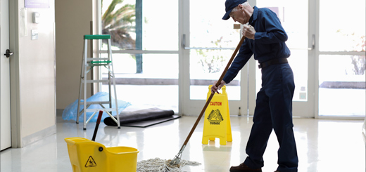
[[[183,113],[200,114],[206,103],[210,85],[217,81],[240,41],[240,25],[222,20],[225,1],[182,2],[182,57],[184,62]],[[209,6],[210,13],[203,11]],[[235,28],[234,28],[235,27]],[[227,84],[230,115],[246,113],[243,74]]]

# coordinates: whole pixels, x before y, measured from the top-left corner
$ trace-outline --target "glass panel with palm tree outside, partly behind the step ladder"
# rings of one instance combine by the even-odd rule
[[[100,2],[99,28],[101,34],[112,36],[118,100],[130,102],[132,110],[158,107],[178,113],[178,1]],[[101,58],[107,47],[106,41],[99,43]],[[104,67],[94,73],[108,76]],[[108,92],[108,84],[99,86]]]

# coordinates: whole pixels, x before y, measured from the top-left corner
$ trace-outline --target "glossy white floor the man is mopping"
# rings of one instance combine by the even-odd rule
[[[116,127],[101,124],[96,142],[106,147],[135,147],[138,161],[152,158],[172,159],[179,152],[197,117],[181,117],[147,128]],[[203,120],[185,148],[182,159],[198,161],[201,166],[184,166],[184,171],[229,171],[246,158],[245,147],[251,130],[251,117],[231,117],[232,143],[219,140],[202,145]],[[298,171],[365,171],[365,140],[362,120],[294,119],[298,148]],[[57,133],[21,149],[1,152],[1,172],[72,171],[64,138],[92,139],[95,123],[82,130],[82,124],[57,118]],[[277,168],[277,139],[272,133],[264,154],[264,172]],[[121,169],[121,171],[123,171]]]

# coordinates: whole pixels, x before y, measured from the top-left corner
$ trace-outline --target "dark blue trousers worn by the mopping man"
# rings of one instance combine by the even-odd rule
[[[288,63],[262,69],[262,88],[257,94],[253,126],[246,145],[248,157],[244,164],[248,167],[264,166],[263,154],[273,129],[279,143],[277,171],[297,171],[298,156],[292,123],[294,89],[294,74]]]

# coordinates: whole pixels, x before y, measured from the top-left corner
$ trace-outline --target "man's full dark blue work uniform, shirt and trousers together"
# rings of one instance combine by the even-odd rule
[[[254,54],[259,63],[279,58],[289,58],[287,34],[276,13],[268,8],[254,6],[249,25],[255,29],[253,39],[246,38],[238,55],[227,70],[223,80],[229,84]],[[288,63],[262,68],[262,88],[257,93],[251,135],[246,145],[248,157],[244,164],[250,168],[264,166],[263,154],[272,129],[279,142],[277,171],[297,171],[298,156],[292,122],[294,74]]]

